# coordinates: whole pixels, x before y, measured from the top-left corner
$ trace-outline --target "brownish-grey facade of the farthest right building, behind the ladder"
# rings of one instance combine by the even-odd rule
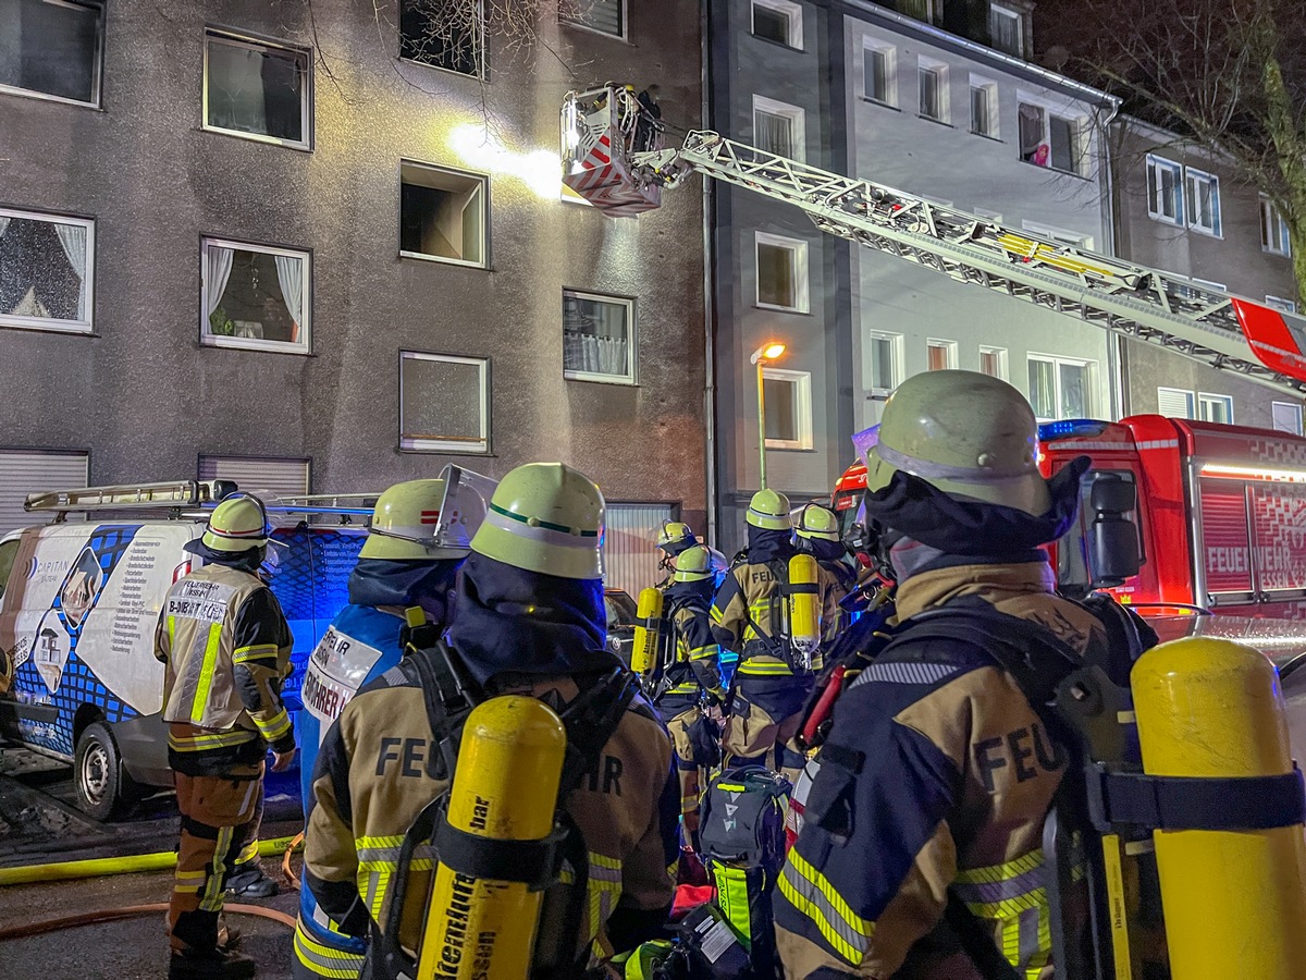
[[[1208,149],[1138,119],[1113,132],[1122,257],[1297,312],[1288,227]],[[1302,401],[1228,371],[1127,341],[1128,412],[1302,434]]]

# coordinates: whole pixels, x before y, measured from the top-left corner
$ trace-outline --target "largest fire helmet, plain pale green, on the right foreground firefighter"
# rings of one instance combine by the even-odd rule
[[[976,371],[908,378],[884,405],[866,453],[866,490],[905,470],[946,494],[1041,516],[1051,507],[1038,473],[1038,423],[1025,396]]]

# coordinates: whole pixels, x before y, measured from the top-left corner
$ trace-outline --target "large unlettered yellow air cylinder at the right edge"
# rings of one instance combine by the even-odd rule
[[[1175,640],[1144,653],[1130,686],[1148,775],[1292,771],[1279,674],[1256,651]],[[1306,979],[1301,825],[1157,830],[1153,840],[1173,980]]]

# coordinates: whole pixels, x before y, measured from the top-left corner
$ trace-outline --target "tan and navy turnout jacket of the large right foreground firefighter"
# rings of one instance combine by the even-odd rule
[[[897,614],[963,596],[1104,653],[1101,621],[1053,595],[1046,562],[922,572],[899,587]],[[786,975],[973,976],[955,941],[931,936],[952,889],[1021,977],[1047,980],[1042,828],[1067,758],[980,645],[902,636],[835,706],[776,894]]]

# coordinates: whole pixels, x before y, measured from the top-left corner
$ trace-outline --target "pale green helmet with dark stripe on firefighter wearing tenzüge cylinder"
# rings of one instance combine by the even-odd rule
[[[528,463],[499,481],[471,550],[542,575],[603,578],[603,494],[562,463]]]

